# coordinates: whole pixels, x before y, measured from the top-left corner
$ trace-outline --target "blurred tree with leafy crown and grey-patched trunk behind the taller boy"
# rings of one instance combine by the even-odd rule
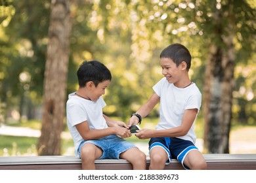
[[[211,8],[209,8],[211,7]],[[204,147],[209,153],[229,153],[234,67],[240,54],[255,46],[255,8],[247,1],[200,3],[201,27],[208,39],[204,89]],[[200,26],[200,25],[199,25]],[[247,53],[242,60],[251,57]]]

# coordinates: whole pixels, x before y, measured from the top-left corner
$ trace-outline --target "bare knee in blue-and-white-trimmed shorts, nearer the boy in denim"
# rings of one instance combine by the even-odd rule
[[[150,151],[150,170],[163,170],[168,156],[163,148],[154,147]]]

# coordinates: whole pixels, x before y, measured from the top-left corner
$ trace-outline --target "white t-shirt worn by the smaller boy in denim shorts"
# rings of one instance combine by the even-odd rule
[[[77,148],[83,138],[77,131],[75,125],[87,121],[90,129],[105,129],[108,127],[105,118],[103,118],[102,108],[106,106],[104,99],[100,97],[96,102],[83,99],[74,93],[68,95],[66,103],[67,124],[72,135],[75,155],[77,156]]]

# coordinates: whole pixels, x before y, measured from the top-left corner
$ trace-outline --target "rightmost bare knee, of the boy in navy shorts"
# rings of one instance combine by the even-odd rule
[[[203,158],[203,155],[198,150],[191,150],[184,159],[184,164],[191,170],[205,170],[207,169],[207,163]]]

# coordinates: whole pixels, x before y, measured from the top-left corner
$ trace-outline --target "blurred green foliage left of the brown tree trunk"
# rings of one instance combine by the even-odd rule
[[[9,16],[1,23],[1,101],[7,110],[35,118],[32,105],[41,103],[50,3],[6,1]],[[30,108],[30,109],[28,109]],[[27,110],[28,109],[28,110]]]

